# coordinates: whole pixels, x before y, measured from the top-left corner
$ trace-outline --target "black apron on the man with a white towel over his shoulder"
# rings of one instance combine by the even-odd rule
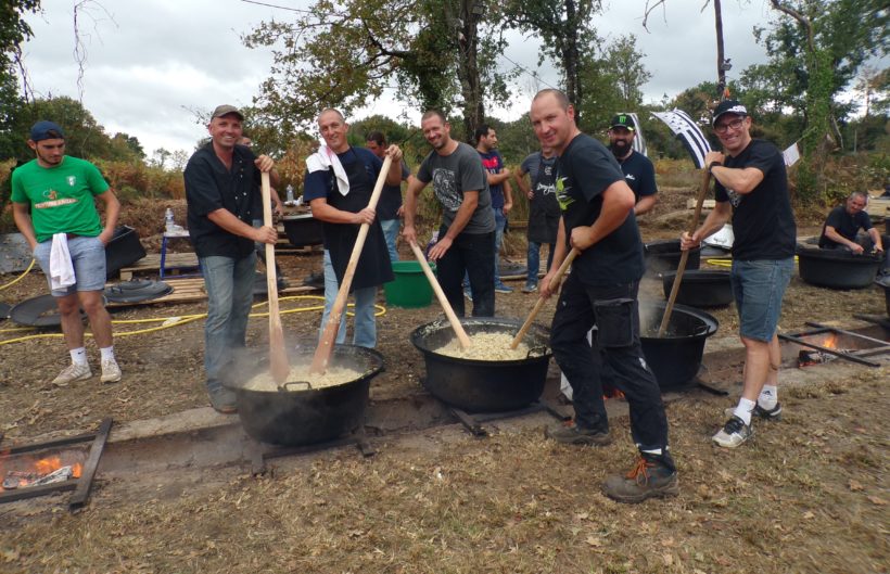
[[[368,206],[371,201],[374,181],[371,180],[365,162],[349,148],[354,156],[354,162],[343,164],[346,177],[349,179],[349,193],[345,196],[340,193],[336,187],[336,179],[331,170],[331,181],[333,189],[328,193],[328,204],[343,212],[358,213]],[[353,254],[355,240],[358,238],[358,230],[361,226],[351,224],[322,224],[325,231],[325,245],[331,253],[331,264],[333,264],[336,282],[343,282],[346,275],[346,266],[349,264],[349,256]],[[383,229],[380,227],[380,219],[374,218],[365,239],[361,255],[358,257],[358,266],[353,277],[351,291],[387,283],[394,279],[393,266],[390,263],[390,251],[386,248],[386,240],[383,238]]]

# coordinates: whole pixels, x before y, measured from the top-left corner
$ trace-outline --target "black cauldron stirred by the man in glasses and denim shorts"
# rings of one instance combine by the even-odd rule
[[[702,310],[674,305],[668,331],[659,337],[658,329],[665,307],[664,302],[640,302],[639,328],[646,362],[661,390],[670,391],[685,385],[698,374],[704,341],[717,332],[719,323]]]

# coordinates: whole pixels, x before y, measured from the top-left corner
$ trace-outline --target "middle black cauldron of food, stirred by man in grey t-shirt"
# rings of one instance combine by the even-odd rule
[[[522,320],[503,317],[461,319],[467,334],[514,335]],[[533,324],[524,342],[532,348],[519,360],[474,360],[440,355],[435,349],[455,337],[447,321],[433,321],[411,333],[411,343],[423,354],[427,378],[423,386],[443,403],[470,412],[496,412],[522,408],[541,397],[550,360],[548,331]]]

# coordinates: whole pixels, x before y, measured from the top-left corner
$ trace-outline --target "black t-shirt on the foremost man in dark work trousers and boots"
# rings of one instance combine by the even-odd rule
[[[602,209],[602,192],[623,180],[621,166],[600,142],[581,133],[569,143],[557,163],[557,199],[567,239],[572,229],[596,221]],[[643,277],[643,242],[633,211],[621,226],[584,250],[572,265],[572,272],[588,285],[631,283]]]

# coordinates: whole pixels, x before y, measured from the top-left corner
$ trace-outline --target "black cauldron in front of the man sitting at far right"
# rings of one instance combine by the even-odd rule
[[[880,269],[883,254],[854,255],[847,250],[798,245],[798,270],[805,282],[829,289],[864,289]]]

